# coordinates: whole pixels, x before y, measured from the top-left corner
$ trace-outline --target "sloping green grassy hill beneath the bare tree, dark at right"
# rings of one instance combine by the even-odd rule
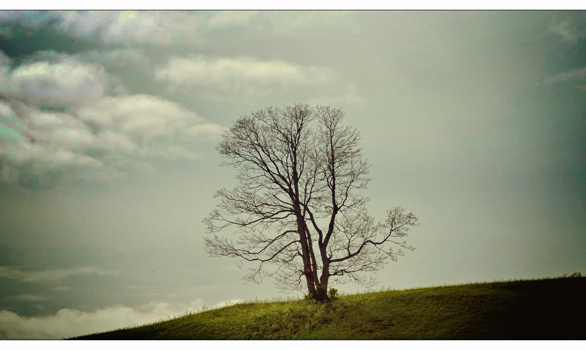
[[[586,339],[586,277],[235,304],[71,339]]]

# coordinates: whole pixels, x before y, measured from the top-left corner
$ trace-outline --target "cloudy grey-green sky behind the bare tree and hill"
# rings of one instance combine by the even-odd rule
[[[0,11],[0,339],[300,297],[202,224],[222,133],[297,102],[419,218],[373,290],[586,273],[586,12]]]

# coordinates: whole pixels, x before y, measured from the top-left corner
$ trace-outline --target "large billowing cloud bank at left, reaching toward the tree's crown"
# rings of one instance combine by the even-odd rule
[[[11,64],[0,54],[4,183],[50,188],[153,172],[156,159],[202,159],[223,130],[160,97],[106,96],[103,66],[76,57]]]

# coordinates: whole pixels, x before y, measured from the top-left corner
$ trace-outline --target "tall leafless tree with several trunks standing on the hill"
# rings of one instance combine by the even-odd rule
[[[239,184],[218,190],[218,208],[203,220],[214,234],[205,238],[210,256],[240,258],[239,267],[254,262],[245,280],[272,276],[283,291],[306,287],[322,301],[329,283],[373,286],[366,273],[404,255],[391,243],[415,249],[393,240],[418,225],[412,212],[396,207],[379,223],[367,214],[369,198],[356,192],[370,181],[370,164],[343,115],[341,108],[296,104],[234,122],[216,149],[228,159],[220,165],[239,168]],[[229,227],[236,242],[216,235]]]

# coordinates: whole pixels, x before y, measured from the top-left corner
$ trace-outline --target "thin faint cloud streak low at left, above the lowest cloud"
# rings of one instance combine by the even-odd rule
[[[118,272],[107,271],[97,267],[71,267],[69,269],[54,269],[45,271],[25,270],[21,267],[10,268],[0,266],[0,278],[8,278],[28,283],[43,283],[47,286],[59,285],[63,280],[79,274],[97,274],[98,276],[115,276]]]

